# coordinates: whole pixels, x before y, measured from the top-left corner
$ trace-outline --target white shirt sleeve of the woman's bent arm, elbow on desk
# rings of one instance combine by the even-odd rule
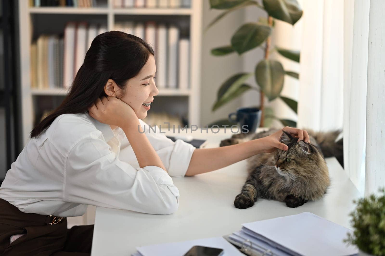
[[[162,168],[134,168],[118,159],[102,139],[87,137],[65,163],[65,201],[152,214],[178,208],[179,190]]]

